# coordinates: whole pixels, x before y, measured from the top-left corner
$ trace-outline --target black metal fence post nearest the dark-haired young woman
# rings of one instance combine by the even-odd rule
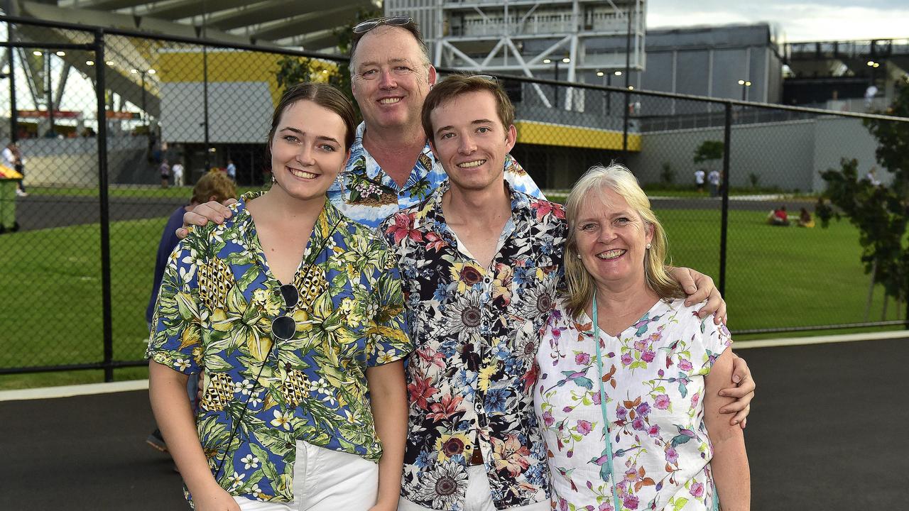
[[[105,102],[105,31],[95,29],[95,98],[98,119],[98,200],[101,215],[101,296],[105,382],[114,381],[114,329],[111,311],[110,204],[107,198],[107,104]]]

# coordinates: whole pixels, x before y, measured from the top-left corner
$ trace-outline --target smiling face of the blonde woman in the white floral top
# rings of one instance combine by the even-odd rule
[[[578,211],[577,252],[597,285],[646,286],[645,245],[653,239],[653,228],[609,188],[587,195]]]

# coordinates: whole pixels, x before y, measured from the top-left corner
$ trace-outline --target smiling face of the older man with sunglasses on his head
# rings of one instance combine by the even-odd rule
[[[423,101],[435,84],[435,68],[427,66],[413,34],[379,26],[360,39],[351,65],[351,87],[367,126],[419,124]]]

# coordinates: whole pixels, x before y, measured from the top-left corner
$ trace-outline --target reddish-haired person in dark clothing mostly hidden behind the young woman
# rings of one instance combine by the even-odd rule
[[[180,165],[179,161],[174,164],[175,178],[177,165]],[[155,277],[152,280],[152,296],[148,300],[148,306],[145,307],[145,323],[148,325],[149,330],[152,328],[152,318],[155,316],[155,302],[158,299],[158,290],[161,287],[161,278],[165,275],[165,267],[167,267],[168,258],[170,257],[171,252],[174,251],[174,247],[180,242],[176,237],[175,232],[180,225],[183,225],[183,215],[187,211],[192,211],[196,205],[200,205],[204,202],[220,202],[235,196],[236,187],[233,181],[227,179],[227,176],[220,172],[209,172],[208,174],[203,175],[195,186],[193,186],[193,195],[189,200],[189,204],[181,205],[176,208],[174,213],[170,215],[170,218],[167,219],[165,230],[161,233],[161,241],[158,243],[158,253],[155,257]],[[189,396],[194,412],[197,406],[198,388],[198,375],[190,376],[186,382],[186,394]],[[145,442],[159,451],[167,450],[167,445],[165,444],[164,438],[161,436],[161,431],[157,428],[155,428],[155,431],[145,439]]]

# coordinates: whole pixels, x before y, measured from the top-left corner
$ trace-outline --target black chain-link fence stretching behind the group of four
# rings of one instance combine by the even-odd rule
[[[240,193],[263,186],[286,70],[331,80],[345,60],[14,21],[0,137],[18,146],[27,195],[0,194],[0,222],[16,231],[0,237],[0,374],[103,368],[109,380],[145,364],[168,217],[212,169]],[[865,275],[854,227],[795,226],[802,209],[814,214],[819,171],[843,157],[876,165],[861,115],[500,80],[516,108],[513,155],[546,194],[564,200],[591,165],[627,165],[673,263],[722,287],[734,332],[904,321]],[[780,206],[791,225],[768,225]]]

